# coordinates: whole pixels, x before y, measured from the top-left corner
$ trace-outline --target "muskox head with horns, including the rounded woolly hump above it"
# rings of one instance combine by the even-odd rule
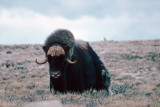
[[[49,63],[50,76],[59,78],[63,75],[64,66],[66,63],[75,64],[76,61],[71,61],[75,39],[73,34],[66,29],[59,29],[52,33],[45,41],[43,50],[46,58],[37,64]]]

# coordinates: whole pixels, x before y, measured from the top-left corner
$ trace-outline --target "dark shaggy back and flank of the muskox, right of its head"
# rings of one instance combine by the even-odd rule
[[[104,64],[85,41],[76,41],[72,60],[77,60],[74,65],[69,64],[66,71],[67,90],[83,92],[87,89],[106,89],[110,85],[110,76]]]

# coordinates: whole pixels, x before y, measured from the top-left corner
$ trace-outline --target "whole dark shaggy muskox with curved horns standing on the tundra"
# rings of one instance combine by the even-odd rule
[[[74,39],[66,29],[52,33],[43,46],[49,63],[50,91],[83,92],[105,89],[109,93],[110,75],[88,42]]]

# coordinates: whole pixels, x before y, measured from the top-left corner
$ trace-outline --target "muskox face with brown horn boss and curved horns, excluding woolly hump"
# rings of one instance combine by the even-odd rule
[[[50,75],[55,79],[62,76],[65,63],[76,63],[76,60],[71,61],[69,58],[67,58],[64,49],[60,45],[53,45],[49,49],[44,46],[43,50],[46,53],[46,58],[42,62],[36,60],[36,63],[45,64],[46,62],[48,62],[50,68]]]

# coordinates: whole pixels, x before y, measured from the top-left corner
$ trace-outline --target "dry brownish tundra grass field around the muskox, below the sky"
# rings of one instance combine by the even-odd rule
[[[42,45],[0,45],[0,107],[59,100],[64,106],[160,107],[160,40],[99,41],[90,45],[111,75],[112,96],[104,90],[82,94],[49,91]]]

